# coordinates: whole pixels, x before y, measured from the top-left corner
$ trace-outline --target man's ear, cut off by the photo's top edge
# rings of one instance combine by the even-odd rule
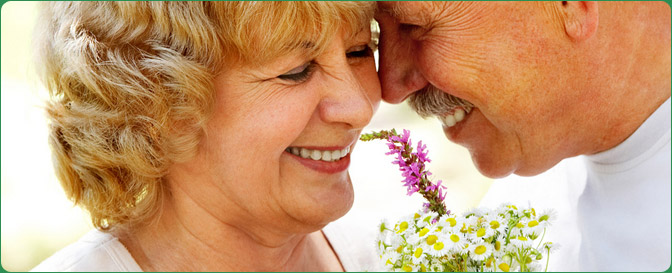
[[[596,1],[562,1],[565,33],[576,42],[592,37],[599,21]]]

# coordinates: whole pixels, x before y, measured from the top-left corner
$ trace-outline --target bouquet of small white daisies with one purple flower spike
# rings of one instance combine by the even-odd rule
[[[546,228],[555,218],[552,210],[538,213],[513,204],[498,208],[472,209],[456,215],[443,203],[445,186],[433,183],[425,163],[426,145],[418,142],[413,151],[409,131],[363,134],[361,140],[386,140],[388,155],[396,155],[408,195],[419,193],[427,202],[423,208],[394,225],[379,225],[376,249],[389,271],[540,271],[557,245],[546,242]]]

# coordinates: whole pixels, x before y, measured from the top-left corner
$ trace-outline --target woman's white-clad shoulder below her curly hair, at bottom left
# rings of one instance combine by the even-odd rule
[[[126,247],[113,235],[98,230],[59,250],[31,271],[142,271]]]

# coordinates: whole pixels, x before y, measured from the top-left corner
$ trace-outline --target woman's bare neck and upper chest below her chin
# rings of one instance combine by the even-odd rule
[[[157,220],[116,235],[145,271],[343,271],[321,231],[232,224],[173,191]]]

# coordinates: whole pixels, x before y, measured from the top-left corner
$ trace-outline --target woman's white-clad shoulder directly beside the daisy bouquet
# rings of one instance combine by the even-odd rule
[[[381,271],[376,254],[375,224],[349,213],[322,229],[345,271]]]

